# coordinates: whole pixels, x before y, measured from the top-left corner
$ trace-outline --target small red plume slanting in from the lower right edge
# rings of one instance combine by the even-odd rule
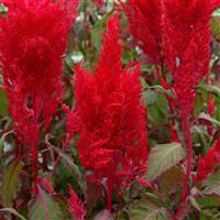
[[[218,164],[220,164],[220,139],[213,143],[204,157],[199,158],[196,179],[204,180],[209,177]]]

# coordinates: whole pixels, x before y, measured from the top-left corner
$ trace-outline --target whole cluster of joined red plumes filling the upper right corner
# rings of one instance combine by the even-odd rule
[[[124,7],[143,52],[158,65],[166,62],[182,118],[191,112],[195,87],[208,74],[209,21],[218,4],[217,0],[129,0]]]

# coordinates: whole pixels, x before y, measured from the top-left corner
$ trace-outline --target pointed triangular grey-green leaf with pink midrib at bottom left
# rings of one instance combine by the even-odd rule
[[[28,213],[29,220],[63,220],[64,216],[57,202],[55,202],[42,188],[38,187],[38,196],[31,205]]]

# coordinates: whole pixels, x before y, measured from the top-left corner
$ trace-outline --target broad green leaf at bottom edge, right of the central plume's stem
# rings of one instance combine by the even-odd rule
[[[130,220],[167,220],[168,216],[164,207],[148,197],[143,197],[132,202],[129,207]]]

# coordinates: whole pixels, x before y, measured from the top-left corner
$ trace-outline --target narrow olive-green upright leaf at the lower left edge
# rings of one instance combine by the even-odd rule
[[[14,161],[3,173],[2,201],[4,207],[10,207],[19,186],[19,175],[23,168],[21,161]]]

